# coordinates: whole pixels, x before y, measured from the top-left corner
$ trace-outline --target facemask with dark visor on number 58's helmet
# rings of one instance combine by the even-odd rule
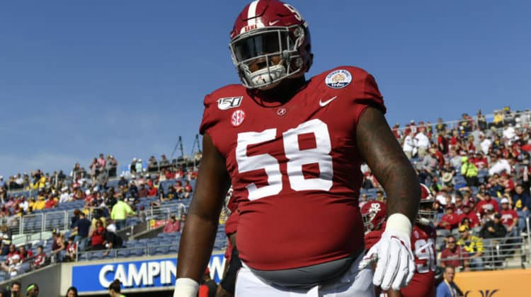
[[[267,90],[284,78],[304,74],[297,50],[304,37],[300,25],[258,28],[235,37],[229,47],[244,86]]]

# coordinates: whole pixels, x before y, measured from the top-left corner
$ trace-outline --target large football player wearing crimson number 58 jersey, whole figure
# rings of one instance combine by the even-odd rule
[[[384,118],[375,79],[339,66],[307,81],[308,25],[277,0],[244,8],[230,48],[242,85],[205,97],[203,155],[174,296],[195,296],[230,184],[239,202],[236,246],[243,262],[236,296],[372,296],[371,282],[406,286],[421,191]],[[362,162],[388,197],[386,229],[367,254],[379,255],[374,275],[358,268]]]

